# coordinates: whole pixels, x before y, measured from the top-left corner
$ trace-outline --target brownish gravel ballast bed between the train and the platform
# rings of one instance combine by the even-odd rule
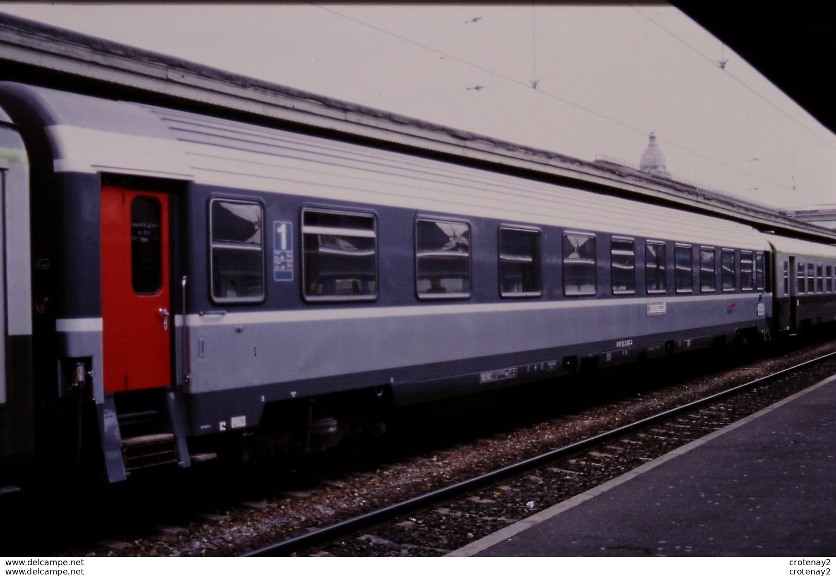
[[[35,504],[39,512],[60,521],[43,527],[34,519],[37,514],[21,507],[20,515],[32,516],[33,528],[38,527],[43,539],[21,540],[28,548],[18,548],[13,539],[6,545],[14,546],[15,553],[41,555],[235,555],[256,550],[334,555],[447,553],[725,426],[742,412],[726,407],[723,400],[693,414],[670,416],[670,423],[645,422],[635,436],[619,436],[604,445],[599,439],[585,452],[580,452],[578,444],[564,448],[572,451],[569,456],[541,456],[555,446],[575,445],[600,431],[753,380],[747,375],[771,373],[799,356],[811,358],[834,349],[836,342],[819,343],[785,357],[755,359],[731,372],[728,366],[711,370],[706,359],[689,354],[686,358],[693,361],[684,364],[604,374],[598,385],[586,378],[560,388],[552,384],[551,390],[549,384],[535,386],[516,403],[507,396],[487,405],[468,400],[465,404],[477,407],[466,416],[447,412],[423,430],[415,422],[426,422],[434,415],[425,412],[401,418],[404,430],[395,432],[395,446],[385,446],[375,454],[309,466],[278,480],[263,471],[227,472],[222,466],[196,469],[185,476],[134,478],[127,486],[110,487],[110,492],[99,495],[100,506],[93,499],[79,499],[87,502],[79,518],[73,510],[55,509],[39,500]],[[833,373],[836,361],[832,364],[819,370]],[[673,377],[683,373],[687,378]],[[670,385],[625,381],[635,375],[657,381],[670,378]],[[812,383],[818,376],[811,378]],[[571,387],[579,382],[588,389]],[[556,381],[562,383],[567,380]],[[758,401],[778,400],[771,400],[771,393],[757,396]],[[601,398],[606,399],[604,405]],[[711,412],[732,420],[716,420],[719,416]],[[540,463],[553,458],[558,460]],[[528,467],[513,473],[512,465],[521,460],[528,460],[523,465]],[[487,484],[481,489],[464,483],[496,470],[500,472],[494,472],[493,480],[483,480]],[[438,492],[443,489],[449,492]],[[437,493],[422,500],[427,492]],[[459,496],[454,498],[454,494]],[[370,528],[372,524],[376,528]],[[296,538],[326,527],[332,528],[311,533],[308,538],[313,539]],[[20,533],[31,532],[24,524]],[[279,548],[268,551],[268,545],[278,542],[282,543]]]

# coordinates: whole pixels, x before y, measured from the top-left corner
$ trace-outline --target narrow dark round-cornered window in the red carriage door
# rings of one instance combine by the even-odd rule
[[[137,294],[162,288],[161,211],[156,198],[136,196],[130,202],[130,282]]]

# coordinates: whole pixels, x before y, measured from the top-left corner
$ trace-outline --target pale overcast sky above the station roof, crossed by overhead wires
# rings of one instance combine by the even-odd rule
[[[637,165],[653,130],[675,177],[772,206],[836,201],[836,136],[671,7],[0,11],[584,160]]]

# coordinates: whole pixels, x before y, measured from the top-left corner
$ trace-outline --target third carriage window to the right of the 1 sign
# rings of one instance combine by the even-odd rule
[[[502,296],[539,296],[540,232],[499,229],[499,282]]]

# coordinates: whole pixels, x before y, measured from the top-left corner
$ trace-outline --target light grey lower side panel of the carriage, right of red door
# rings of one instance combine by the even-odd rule
[[[665,301],[660,299],[660,301]],[[737,298],[670,298],[666,313],[647,316],[644,302],[619,306],[416,313],[235,324],[217,317],[189,326],[191,394],[337,375],[395,370],[712,326],[758,326],[757,294]],[[767,306],[769,303],[767,303]],[[320,308],[321,309],[321,308]],[[265,313],[265,318],[273,318]],[[242,319],[252,320],[252,314]],[[212,322],[217,323],[212,325]],[[380,383],[363,383],[376,385]]]

